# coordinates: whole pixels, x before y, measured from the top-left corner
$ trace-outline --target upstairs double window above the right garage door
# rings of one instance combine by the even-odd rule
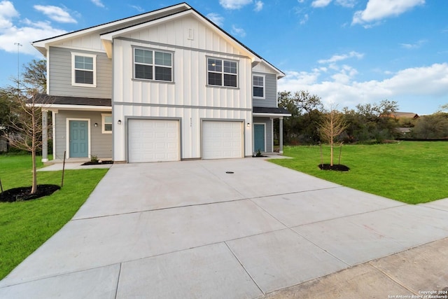
[[[207,84],[238,87],[238,63],[231,60],[207,58]]]

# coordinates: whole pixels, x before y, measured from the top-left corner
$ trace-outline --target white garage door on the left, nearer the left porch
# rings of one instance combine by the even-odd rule
[[[178,161],[179,120],[128,120],[129,162]]]

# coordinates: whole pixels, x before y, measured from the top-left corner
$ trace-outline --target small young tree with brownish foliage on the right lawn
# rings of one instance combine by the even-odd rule
[[[333,148],[335,139],[346,129],[344,114],[330,107],[330,111],[323,115],[321,123],[318,126],[321,138],[330,144],[330,167],[333,166]]]

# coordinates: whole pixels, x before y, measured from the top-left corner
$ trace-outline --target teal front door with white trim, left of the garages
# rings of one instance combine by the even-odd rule
[[[87,120],[69,120],[69,158],[85,158],[89,155],[89,131]]]

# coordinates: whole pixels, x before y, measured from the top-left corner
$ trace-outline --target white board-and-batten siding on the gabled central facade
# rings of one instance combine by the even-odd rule
[[[189,29],[193,29],[193,39],[189,39]],[[173,82],[134,79],[134,47],[173,53]],[[238,87],[207,85],[207,57],[236,61]],[[229,151],[238,158],[252,154],[251,146],[244,146],[252,142],[251,127],[243,125],[252,123],[251,57],[214,29],[193,16],[146,27],[114,39],[112,59],[114,123],[131,118],[179,118],[179,159],[183,160],[201,159],[204,153],[205,158],[209,153],[213,157],[213,151],[218,155],[218,150],[202,143],[202,120],[221,120],[223,123],[238,120],[240,133],[235,137],[239,140],[238,150]],[[221,127],[225,125],[221,124]],[[125,161],[130,157],[127,151],[132,151],[125,142],[130,131],[126,130],[126,125],[116,125],[114,130],[114,160]],[[236,144],[236,141],[230,143]],[[206,146],[205,151],[203,146]],[[223,148],[223,144],[219,147]]]

